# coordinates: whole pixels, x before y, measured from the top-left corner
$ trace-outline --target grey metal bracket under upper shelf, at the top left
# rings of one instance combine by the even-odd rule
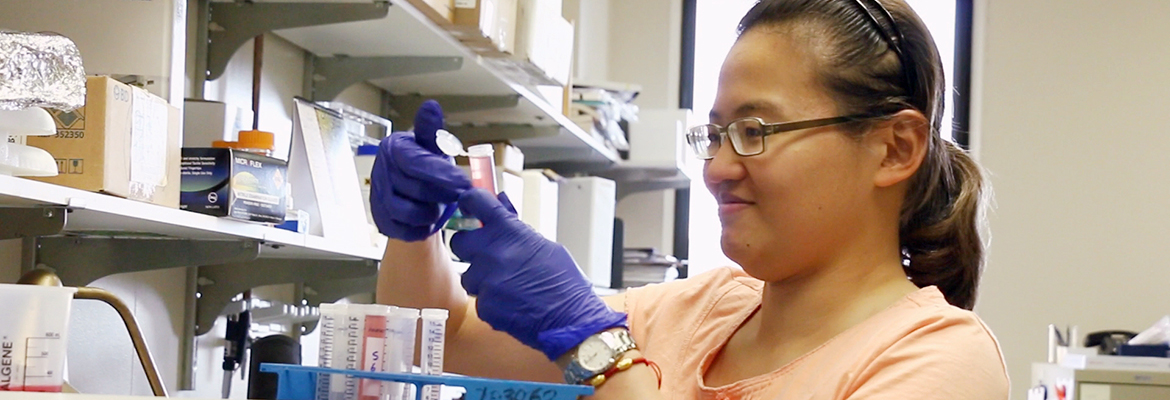
[[[390,13],[388,1],[376,2],[211,2],[208,7],[207,78],[223,75],[235,50],[273,30],[377,20]]]

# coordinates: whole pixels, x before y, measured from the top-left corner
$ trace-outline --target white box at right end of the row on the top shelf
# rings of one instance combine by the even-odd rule
[[[559,0],[518,0],[515,58],[559,85],[573,69],[573,25],[560,15]]]

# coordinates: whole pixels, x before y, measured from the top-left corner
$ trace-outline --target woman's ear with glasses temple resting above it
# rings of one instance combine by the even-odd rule
[[[909,180],[930,147],[930,123],[917,110],[902,110],[882,123],[868,138],[881,157],[874,185],[889,187]]]

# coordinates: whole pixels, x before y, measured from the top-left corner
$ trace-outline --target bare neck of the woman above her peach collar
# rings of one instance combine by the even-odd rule
[[[854,257],[765,284],[756,332],[749,335],[762,344],[817,347],[915,290],[901,260]]]

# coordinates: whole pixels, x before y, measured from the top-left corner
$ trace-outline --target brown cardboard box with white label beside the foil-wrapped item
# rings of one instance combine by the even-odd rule
[[[27,139],[60,173],[34,179],[178,208],[179,109],[105,76],[89,77],[85,91],[85,106],[51,111],[56,136]]]

